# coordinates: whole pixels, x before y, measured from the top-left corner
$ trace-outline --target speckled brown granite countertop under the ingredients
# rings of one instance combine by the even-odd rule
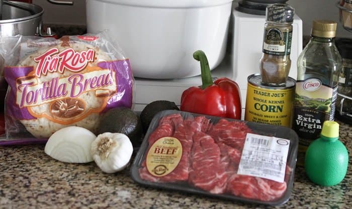
[[[352,127],[339,123],[350,159],[343,181],[319,186],[297,166],[291,198],[277,208],[352,208]],[[44,145],[0,146],[0,208],[272,208],[144,187],[129,170],[107,174],[94,162],[59,162]]]

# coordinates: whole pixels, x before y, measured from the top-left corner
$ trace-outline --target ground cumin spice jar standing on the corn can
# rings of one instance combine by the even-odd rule
[[[270,86],[286,84],[291,67],[292,23],[295,10],[287,4],[267,7],[260,59],[261,83]]]

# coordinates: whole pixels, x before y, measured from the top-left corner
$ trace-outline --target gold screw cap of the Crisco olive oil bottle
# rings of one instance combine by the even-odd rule
[[[312,27],[312,36],[322,38],[334,38],[336,36],[337,23],[328,20],[314,20]]]

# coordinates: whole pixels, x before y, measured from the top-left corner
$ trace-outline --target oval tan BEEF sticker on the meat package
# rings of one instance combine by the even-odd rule
[[[162,137],[150,147],[146,157],[146,167],[154,176],[164,176],[172,172],[182,157],[182,144],[174,137]]]

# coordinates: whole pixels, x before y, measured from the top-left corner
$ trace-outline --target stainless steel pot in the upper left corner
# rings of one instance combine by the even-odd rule
[[[42,22],[44,10],[38,5],[2,1],[0,36],[34,36]]]

